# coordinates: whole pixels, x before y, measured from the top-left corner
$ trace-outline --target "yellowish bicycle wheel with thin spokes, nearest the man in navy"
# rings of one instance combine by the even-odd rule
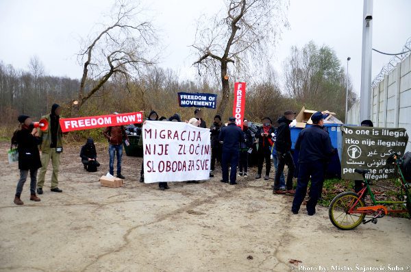
[[[358,195],[353,192],[345,192],[336,195],[329,204],[328,217],[331,223],[340,230],[353,230],[364,220],[365,214],[349,214],[349,209],[356,203]],[[358,201],[355,208],[364,207],[362,199]]]

